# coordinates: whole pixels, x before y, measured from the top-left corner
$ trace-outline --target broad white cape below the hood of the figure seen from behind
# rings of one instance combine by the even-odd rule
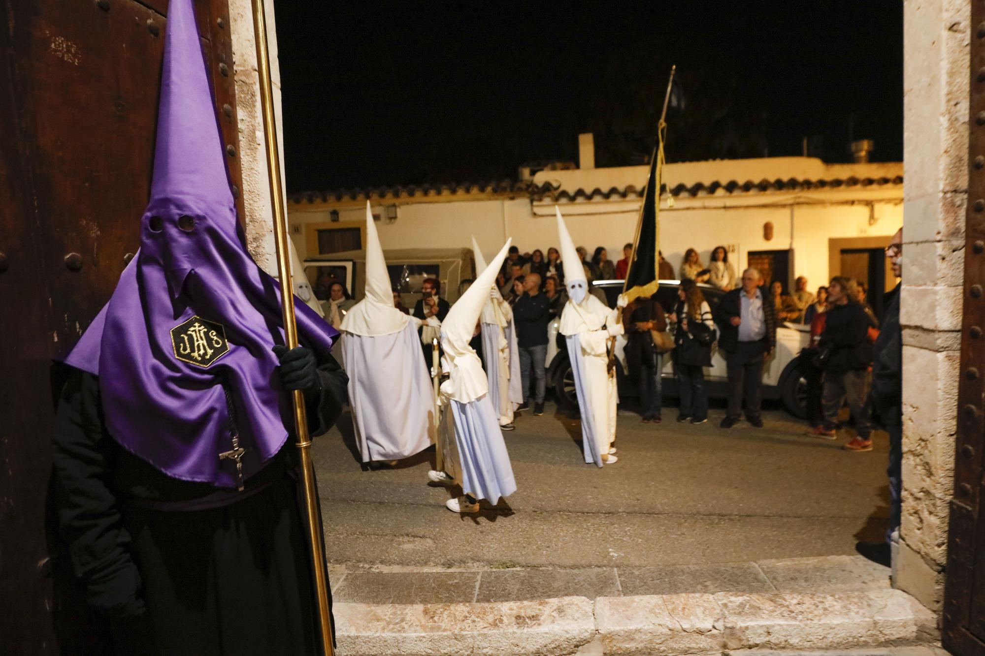
[[[416,322],[388,335],[346,333],[342,347],[362,462],[425,450],[434,441],[434,388]]]

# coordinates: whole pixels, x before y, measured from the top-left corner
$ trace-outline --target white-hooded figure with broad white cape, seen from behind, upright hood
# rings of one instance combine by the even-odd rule
[[[383,249],[366,203],[365,294],[342,320],[349,404],[362,462],[425,450],[434,438],[434,388],[421,358],[419,319],[393,306]]]

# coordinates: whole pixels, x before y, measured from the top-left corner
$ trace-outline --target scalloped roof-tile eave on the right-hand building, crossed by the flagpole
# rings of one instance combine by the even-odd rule
[[[902,175],[895,175],[893,177],[847,177],[821,180],[798,179],[796,177],[791,177],[786,180],[777,178],[775,180],[746,180],[745,182],[740,182],[739,180],[729,180],[727,182],[715,180],[707,183],[679,183],[671,186],[669,190],[667,185],[664,184],[662,185],[660,192],[661,194],[666,194],[670,191],[671,195],[675,197],[695,197],[710,196],[715,193],[742,194],[768,191],[804,191],[825,188],[836,189],[839,187],[881,187],[886,185],[900,185],[902,183]],[[542,185],[535,186],[530,191],[530,196],[535,201],[550,200],[570,202],[577,200],[590,201],[596,199],[609,200],[611,198],[638,198],[642,196],[642,194],[643,187],[637,188],[631,184],[622,188],[611,187],[608,190],[596,187],[591,191],[584,188],[570,191],[568,189],[561,189],[558,185],[546,182]]]

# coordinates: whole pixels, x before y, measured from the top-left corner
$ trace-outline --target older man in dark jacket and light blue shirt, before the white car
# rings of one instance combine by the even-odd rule
[[[722,296],[715,323],[718,347],[728,365],[728,411],[720,426],[735,426],[746,400],[746,419],[762,427],[762,363],[776,347],[776,308],[755,269],[742,273],[742,287]]]

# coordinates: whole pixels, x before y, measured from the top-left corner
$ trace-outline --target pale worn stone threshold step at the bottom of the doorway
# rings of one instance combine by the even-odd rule
[[[335,620],[339,656],[674,656],[737,650],[765,656],[929,645],[939,637],[936,616],[899,590],[340,603]],[[881,652],[858,652],[863,653]]]

